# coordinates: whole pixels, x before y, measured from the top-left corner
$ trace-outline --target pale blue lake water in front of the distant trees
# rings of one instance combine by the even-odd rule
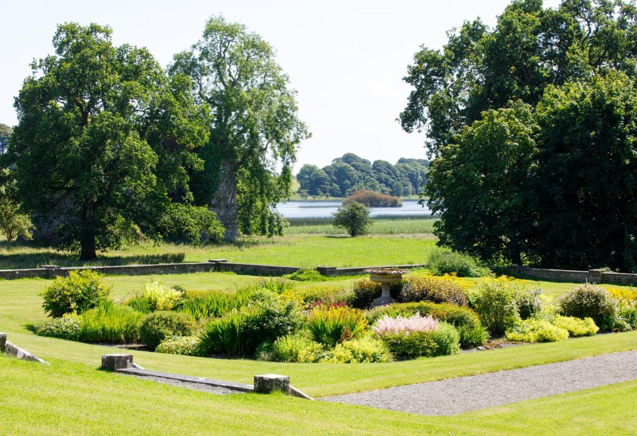
[[[286,218],[329,218],[341,207],[341,201],[288,201],[278,203],[276,209]],[[403,200],[402,207],[373,207],[371,216],[379,215],[431,215],[431,210],[418,204],[418,200]]]

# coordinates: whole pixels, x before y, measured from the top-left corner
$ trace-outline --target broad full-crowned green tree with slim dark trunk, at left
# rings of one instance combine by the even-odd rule
[[[113,46],[101,25],[59,25],[55,54],[32,64],[15,107],[9,163],[24,207],[61,214],[61,248],[95,259],[141,228],[157,235],[208,139],[190,80],[169,80],[145,48]],[[62,205],[62,206],[61,206]]]

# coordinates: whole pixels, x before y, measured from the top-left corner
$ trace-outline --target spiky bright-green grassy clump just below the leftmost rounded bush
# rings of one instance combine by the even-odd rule
[[[79,338],[82,342],[134,342],[143,314],[111,300],[102,300],[83,312]]]

